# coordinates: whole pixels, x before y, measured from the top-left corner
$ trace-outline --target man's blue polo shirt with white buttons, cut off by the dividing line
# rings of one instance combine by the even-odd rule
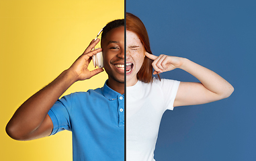
[[[107,81],[100,89],[62,97],[48,112],[51,135],[72,131],[74,161],[124,160],[124,95]]]

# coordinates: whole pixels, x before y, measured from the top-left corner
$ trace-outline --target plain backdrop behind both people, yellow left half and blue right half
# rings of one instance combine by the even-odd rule
[[[250,0],[126,1],[146,25],[153,54],[189,58],[234,86],[228,99],[167,111],[156,160],[256,160],[255,8]],[[105,23],[123,17],[124,1],[0,0],[0,160],[72,160],[71,132],[18,142],[5,125],[71,66]],[[197,81],[179,69],[162,77]],[[101,87],[106,78],[75,83],[65,94]]]

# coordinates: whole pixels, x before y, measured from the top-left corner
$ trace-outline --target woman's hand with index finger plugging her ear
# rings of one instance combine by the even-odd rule
[[[167,72],[167,71],[173,70],[175,68],[180,68],[184,60],[184,58],[180,58],[177,56],[167,56],[167,55],[155,56],[153,54],[149,54],[148,52],[145,52],[145,55],[151,60],[154,60],[154,62],[152,63],[152,66],[155,69],[155,72],[153,72],[153,74],[158,74],[161,72]]]

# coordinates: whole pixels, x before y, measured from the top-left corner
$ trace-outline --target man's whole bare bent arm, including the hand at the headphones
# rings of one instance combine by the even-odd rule
[[[32,95],[15,111],[6,126],[7,134],[15,140],[34,140],[49,136],[52,132],[52,120],[47,114],[52,105],[73,83],[86,80],[102,72],[102,68],[89,71],[87,69],[91,56],[101,52],[101,48],[91,51],[99,42],[92,40],[85,52],[63,71],[49,85]]]

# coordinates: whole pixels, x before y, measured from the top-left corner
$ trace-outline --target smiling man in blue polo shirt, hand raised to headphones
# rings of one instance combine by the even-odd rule
[[[124,160],[124,19],[103,28],[101,48],[85,52],[44,89],[17,109],[6,127],[15,140],[34,140],[67,129],[73,132],[73,160]],[[101,89],[58,99],[73,83],[103,72],[89,71],[91,56],[103,52],[108,80]]]

